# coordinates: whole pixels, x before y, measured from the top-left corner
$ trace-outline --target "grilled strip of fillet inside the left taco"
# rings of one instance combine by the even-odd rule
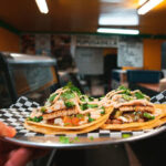
[[[75,107],[73,107],[73,108],[68,108],[68,110],[65,108],[65,110],[43,114],[42,116],[43,116],[43,120],[51,120],[51,118],[61,117],[61,116],[75,115],[79,111]]]

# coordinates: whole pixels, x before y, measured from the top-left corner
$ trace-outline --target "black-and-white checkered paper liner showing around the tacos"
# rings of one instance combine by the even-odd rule
[[[153,103],[166,103],[166,91],[160,94],[152,97]],[[8,110],[0,110],[0,121],[6,123],[7,125],[13,126],[17,129],[19,136],[46,136],[44,134],[39,134],[35,132],[30,132],[23,127],[24,118],[27,118],[30,112],[34,107],[39,107],[40,105],[29,98],[22,96],[20,97],[15,104],[11,105]],[[85,134],[74,134],[72,136],[79,137],[112,137],[112,138],[123,138],[124,134],[129,134],[131,136],[143,135],[144,133],[152,132],[153,129],[147,131],[137,131],[137,132],[120,132],[120,131],[104,131],[96,129]],[[17,136],[18,136],[17,135]],[[60,135],[56,135],[60,136]],[[68,135],[69,136],[69,135]],[[71,136],[71,135],[70,135]]]

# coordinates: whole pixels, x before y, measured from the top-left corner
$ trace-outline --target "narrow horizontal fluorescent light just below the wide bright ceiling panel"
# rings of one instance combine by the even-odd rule
[[[132,29],[111,29],[111,28],[98,28],[100,33],[113,33],[113,34],[139,34],[138,30]]]

